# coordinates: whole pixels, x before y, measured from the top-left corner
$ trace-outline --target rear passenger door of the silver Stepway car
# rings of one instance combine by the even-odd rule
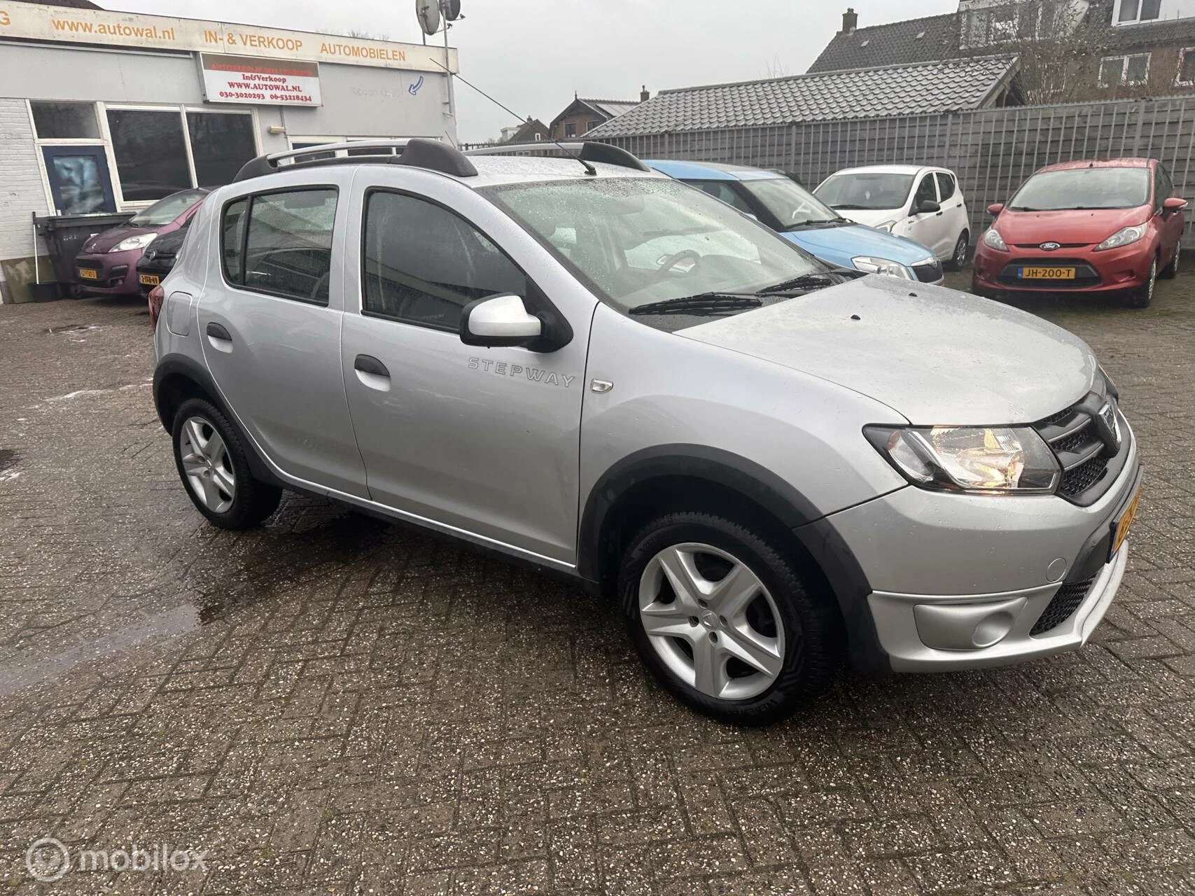
[[[329,172],[329,182],[225,204],[214,222],[223,270],[208,275],[200,339],[228,405],[274,464],[367,497],[341,375],[338,247],[333,265],[351,174]]]

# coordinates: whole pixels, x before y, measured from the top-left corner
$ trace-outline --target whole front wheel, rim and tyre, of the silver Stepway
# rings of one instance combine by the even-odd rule
[[[838,616],[748,529],[673,514],[633,540],[620,587],[631,639],[661,683],[698,712],[766,724],[829,683]]]

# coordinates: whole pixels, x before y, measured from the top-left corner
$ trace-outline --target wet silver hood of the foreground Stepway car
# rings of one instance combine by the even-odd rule
[[[1031,423],[1078,401],[1097,369],[1081,339],[1041,318],[877,275],[678,335],[836,382],[918,425]]]

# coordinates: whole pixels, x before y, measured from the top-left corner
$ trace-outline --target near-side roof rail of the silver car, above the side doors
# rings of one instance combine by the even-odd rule
[[[455,177],[477,177],[473,162],[466,159],[465,154],[456,147],[429,137],[411,137],[410,140],[354,140],[348,143],[323,143],[302,149],[290,149],[286,153],[258,155],[245,162],[237,172],[237,177],[233,178],[233,183],[292,168],[358,165],[362,162],[410,165]]]

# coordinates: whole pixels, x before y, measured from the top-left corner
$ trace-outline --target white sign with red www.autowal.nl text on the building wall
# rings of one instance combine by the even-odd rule
[[[208,103],[318,106],[319,63],[201,53]]]

